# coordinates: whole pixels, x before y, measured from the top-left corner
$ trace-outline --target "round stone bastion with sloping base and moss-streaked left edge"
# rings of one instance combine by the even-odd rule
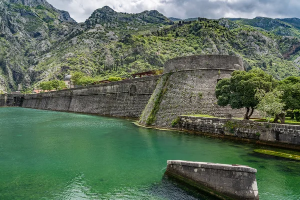
[[[171,127],[178,115],[205,114],[242,117],[244,110],[217,105],[215,86],[235,70],[244,70],[242,60],[232,55],[177,57],[164,64],[164,71],[139,123]]]

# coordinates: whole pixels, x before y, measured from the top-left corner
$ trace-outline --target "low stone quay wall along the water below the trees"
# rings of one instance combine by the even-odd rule
[[[224,118],[179,116],[181,130],[300,150],[300,126]]]

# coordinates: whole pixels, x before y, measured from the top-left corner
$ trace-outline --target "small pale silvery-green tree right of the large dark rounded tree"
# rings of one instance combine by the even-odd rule
[[[258,89],[256,91],[255,98],[258,99],[259,103],[255,108],[261,116],[269,117],[268,122],[272,116],[278,116],[281,123],[284,124],[285,118],[281,117],[285,106],[281,100],[282,95],[283,92],[278,90],[265,92],[263,89]]]

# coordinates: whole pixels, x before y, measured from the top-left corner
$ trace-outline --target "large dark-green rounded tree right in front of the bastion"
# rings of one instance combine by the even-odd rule
[[[224,78],[216,85],[217,104],[229,105],[232,109],[245,108],[244,119],[248,120],[258,104],[255,98],[256,90],[269,92],[274,87],[275,81],[261,69],[252,69],[249,72],[234,71],[231,75],[231,78]]]

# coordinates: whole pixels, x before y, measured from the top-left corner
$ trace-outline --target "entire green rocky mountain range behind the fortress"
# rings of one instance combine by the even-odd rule
[[[277,79],[300,75],[298,20],[220,18],[174,23],[156,10],[96,9],[83,23],[46,0],[0,1],[0,92],[73,71],[102,80],[162,69],[170,58],[230,54]],[[279,31],[280,30],[280,31]]]

